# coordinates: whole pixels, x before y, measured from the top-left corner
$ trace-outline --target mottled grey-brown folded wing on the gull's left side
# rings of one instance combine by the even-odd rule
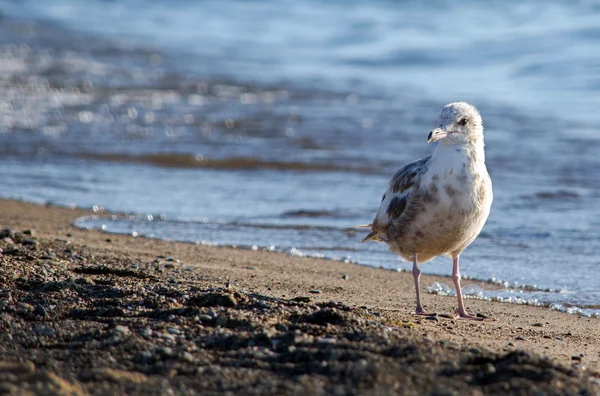
[[[363,239],[386,240],[386,230],[411,206],[411,194],[419,189],[421,176],[427,171],[431,156],[421,158],[404,166],[390,180],[390,184],[381,199],[377,215],[371,225],[371,232]]]

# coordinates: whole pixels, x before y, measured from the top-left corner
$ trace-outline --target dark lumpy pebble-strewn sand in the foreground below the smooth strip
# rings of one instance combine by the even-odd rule
[[[527,352],[497,354],[436,342],[419,337],[412,324],[389,326],[366,309],[209,289],[197,271],[4,234],[0,393],[600,390],[576,368]]]

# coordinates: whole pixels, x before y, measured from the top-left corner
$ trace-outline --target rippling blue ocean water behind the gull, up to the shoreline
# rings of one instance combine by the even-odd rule
[[[593,2],[0,0],[0,15],[2,197],[97,208],[82,228],[408,269],[349,227],[467,100],[495,201],[462,273],[505,285],[472,294],[600,314]]]

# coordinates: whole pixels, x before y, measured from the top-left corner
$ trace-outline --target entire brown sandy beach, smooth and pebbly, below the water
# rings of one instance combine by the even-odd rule
[[[468,299],[488,319],[459,321],[430,294],[415,317],[408,273],[71,225],[90,214],[0,200],[1,391],[600,392],[598,319]]]

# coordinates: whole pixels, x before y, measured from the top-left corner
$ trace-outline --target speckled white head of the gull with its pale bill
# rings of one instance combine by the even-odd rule
[[[427,143],[440,142],[448,146],[479,141],[483,141],[483,122],[475,106],[467,102],[444,106],[437,128],[427,137]]]

